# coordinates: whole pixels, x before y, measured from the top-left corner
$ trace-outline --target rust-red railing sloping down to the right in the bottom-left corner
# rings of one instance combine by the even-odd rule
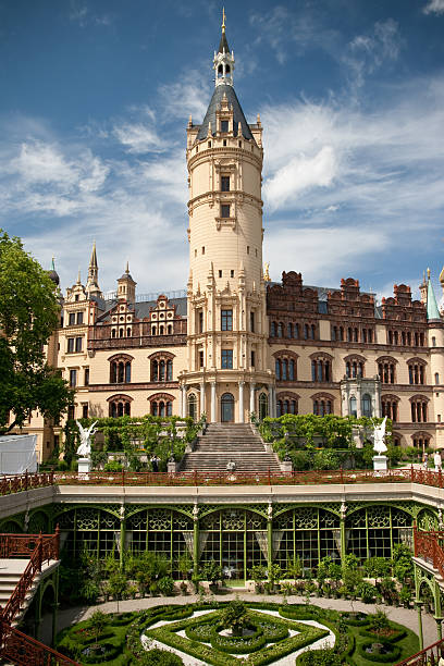
[[[30,636],[22,633],[2,619],[0,619],[0,655],[3,663],[10,662],[20,666],[55,666],[59,664],[78,666],[77,662],[73,662],[70,657],[55,652]]]

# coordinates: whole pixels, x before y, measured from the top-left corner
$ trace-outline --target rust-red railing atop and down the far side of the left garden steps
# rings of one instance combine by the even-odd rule
[[[34,545],[34,550],[30,551]],[[34,579],[41,572],[41,566],[50,559],[59,559],[60,532],[55,534],[0,534],[1,557],[29,555],[29,562],[22,574],[7,605],[1,610],[3,622],[11,624],[25,602],[26,594],[33,587]]]

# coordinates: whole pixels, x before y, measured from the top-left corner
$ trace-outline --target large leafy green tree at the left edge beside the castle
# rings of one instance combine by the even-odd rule
[[[57,419],[72,403],[74,393],[45,358],[58,322],[52,281],[20,238],[0,230],[0,432],[23,425],[36,409]]]

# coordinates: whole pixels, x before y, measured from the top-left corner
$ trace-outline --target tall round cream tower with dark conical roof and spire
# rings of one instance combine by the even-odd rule
[[[233,87],[225,34],[214,53],[215,86],[201,125],[187,126],[188,369],[182,412],[248,420],[270,397],[262,276],[262,126],[248,124]]]

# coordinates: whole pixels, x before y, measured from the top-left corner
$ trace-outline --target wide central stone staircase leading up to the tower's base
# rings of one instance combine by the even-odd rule
[[[181,471],[227,472],[230,460],[236,464],[235,473],[281,471],[278,456],[266,449],[250,423],[210,423],[193,453],[184,455]]]

